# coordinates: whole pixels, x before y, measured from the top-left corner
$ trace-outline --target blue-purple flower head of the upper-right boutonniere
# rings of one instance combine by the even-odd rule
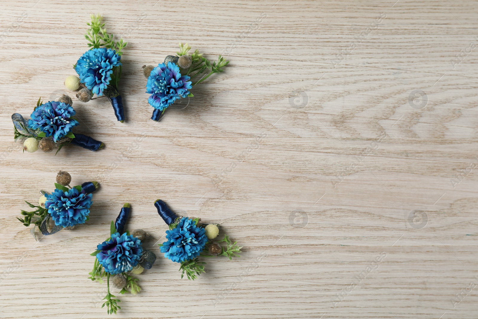
[[[151,96],[149,104],[160,111],[174,103],[176,99],[185,98],[192,88],[190,77],[181,76],[179,66],[172,62],[159,64],[152,69],[146,84],[146,93]]]

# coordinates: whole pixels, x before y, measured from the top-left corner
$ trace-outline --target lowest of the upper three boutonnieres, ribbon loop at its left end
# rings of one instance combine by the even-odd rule
[[[41,99],[41,98],[40,98]],[[105,144],[87,135],[72,132],[78,125],[72,100],[63,95],[58,101],[36,102],[36,107],[26,121],[21,114],[14,113],[11,121],[14,125],[14,139],[26,138],[23,152],[34,153],[38,149],[50,153],[58,147],[55,155],[67,144],[75,144],[90,151],[97,151]]]

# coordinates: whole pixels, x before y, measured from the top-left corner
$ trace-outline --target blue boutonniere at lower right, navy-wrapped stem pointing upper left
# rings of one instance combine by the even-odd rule
[[[178,217],[161,199],[154,202],[158,214],[169,225],[166,231],[166,242],[158,244],[164,257],[175,263],[180,263],[181,278],[186,274],[187,279],[194,280],[201,273],[205,273],[204,264],[199,257],[226,256],[240,257],[242,247],[237,242],[231,242],[227,235],[220,241],[213,241],[219,235],[218,224],[201,223],[200,218]],[[221,243],[226,243],[225,246]]]

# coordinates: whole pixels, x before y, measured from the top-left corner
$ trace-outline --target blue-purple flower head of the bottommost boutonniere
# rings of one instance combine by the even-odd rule
[[[111,239],[100,243],[97,249],[101,252],[96,254],[96,258],[111,275],[131,271],[143,254],[141,241],[126,232],[111,234]]]

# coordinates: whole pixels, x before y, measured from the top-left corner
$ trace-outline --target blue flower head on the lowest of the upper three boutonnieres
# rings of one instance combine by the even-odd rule
[[[53,141],[65,137],[71,129],[78,125],[78,121],[71,119],[75,110],[63,102],[46,102],[33,110],[28,127],[45,132],[46,136],[53,136]]]

